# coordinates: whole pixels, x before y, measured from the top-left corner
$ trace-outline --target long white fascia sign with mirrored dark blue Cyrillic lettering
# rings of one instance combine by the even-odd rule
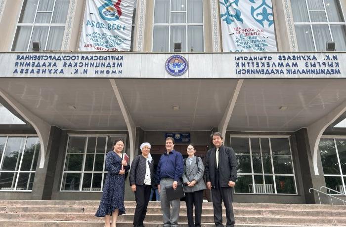
[[[164,67],[171,53],[0,53],[0,77],[346,78],[346,53],[183,53],[189,70]]]

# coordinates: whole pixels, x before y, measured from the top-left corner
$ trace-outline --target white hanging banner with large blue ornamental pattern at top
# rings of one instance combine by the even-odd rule
[[[224,52],[276,52],[271,0],[220,0]]]

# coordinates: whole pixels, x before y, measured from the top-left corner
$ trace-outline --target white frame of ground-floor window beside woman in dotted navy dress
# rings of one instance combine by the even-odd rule
[[[62,171],[62,175],[61,175],[61,183],[60,183],[60,188],[59,191],[60,192],[102,192],[103,191],[103,183],[104,183],[104,178],[106,177],[106,174],[108,173],[108,171],[105,170],[105,161],[106,161],[106,154],[108,153],[107,151],[107,144],[108,144],[108,137],[122,137],[124,138],[124,150],[126,151],[126,141],[127,141],[127,135],[126,134],[67,134],[68,135],[68,139],[67,139],[67,143],[66,143],[66,148],[65,148],[65,158],[64,158],[64,165],[63,165],[63,171]],[[84,145],[84,151],[83,153],[80,153],[81,155],[83,155],[83,161],[82,161],[82,170],[81,171],[65,171],[66,168],[66,157],[67,157],[67,151],[68,151],[68,145],[69,145],[69,141],[70,141],[70,137],[87,137],[86,138],[86,143]],[[87,153],[87,145],[88,145],[88,140],[89,137],[106,137],[106,144],[105,144],[105,152],[103,153],[104,157],[103,157],[103,167],[102,167],[102,171],[94,171],[95,168],[95,157],[96,157],[96,147],[95,147],[95,151],[93,152],[94,154],[94,162],[92,165],[92,171],[84,171],[85,169],[85,162],[86,162],[86,156],[87,154],[91,154],[91,153]],[[99,153],[101,154],[101,153]],[[80,179],[80,186],[78,190],[63,190],[63,186],[64,186],[64,175],[65,173],[77,173],[77,174],[81,174],[81,179]],[[83,180],[84,180],[84,174],[92,174],[91,175],[91,183],[90,183],[90,190],[83,190]],[[102,178],[101,178],[101,190],[92,190],[92,180],[93,180],[93,175],[94,174],[102,174]]]

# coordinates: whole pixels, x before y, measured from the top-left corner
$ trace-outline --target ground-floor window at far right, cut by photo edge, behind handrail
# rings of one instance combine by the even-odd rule
[[[322,138],[318,147],[326,187],[345,193],[346,139]]]

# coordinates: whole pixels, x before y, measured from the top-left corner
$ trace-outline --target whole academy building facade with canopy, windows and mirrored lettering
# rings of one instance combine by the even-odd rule
[[[94,52],[79,51],[87,0],[0,0],[0,198],[98,200],[116,138],[131,160],[149,142],[158,162],[167,136],[204,159],[216,131],[236,152],[236,202],[345,193],[346,0],[249,0],[271,6],[271,52],[226,50],[234,2],[136,0],[130,51]],[[181,76],[165,69],[176,54]]]

